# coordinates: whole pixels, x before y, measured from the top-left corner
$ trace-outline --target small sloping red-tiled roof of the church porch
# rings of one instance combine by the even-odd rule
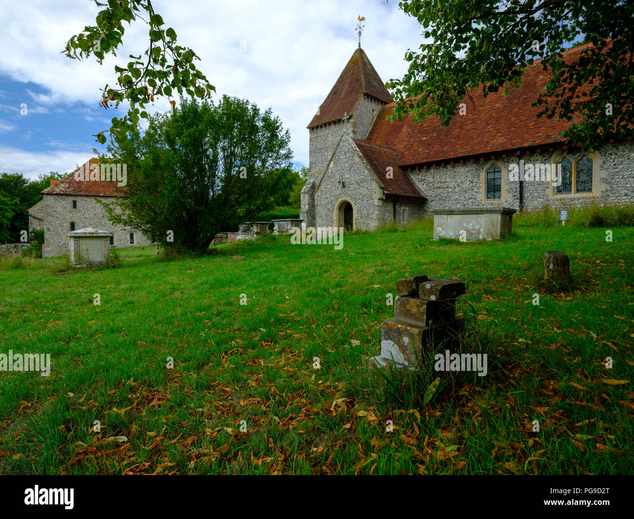
[[[361,139],[354,139],[354,143],[383,184],[383,190],[386,195],[407,196],[408,198],[426,200],[425,196],[410,179],[410,176],[399,167],[394,150],[375,146]],[[389,167],[392,168],[391,178],[387,177]]]

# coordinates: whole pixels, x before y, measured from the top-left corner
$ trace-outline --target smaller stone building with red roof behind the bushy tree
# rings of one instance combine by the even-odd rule
[[[91,158],[86,164],[75,169],[42,191],[42,200],[27,212],[31,229],[44,227],[42,257],[48,258],[68,254],[68,233],[84,227],[96,227],[112,233],[112,247],[141,247],[152,245],[143,234],[128,227],[115,226],[108,220],[103,207],[96,201],[109,202],[115,196],[122,196],[117,179],[81,179],[78,172],[100,171],[98,158]],[[38,227],[39,226],[39,227]]]

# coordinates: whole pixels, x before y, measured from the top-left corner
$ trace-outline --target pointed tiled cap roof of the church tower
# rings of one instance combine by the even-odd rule
[[[319,113],[307,127],[312,128],[342,119],[346,113],[350,115],[363,94],[369,94],[385,103],[391,103],[393,100],[368,56],[359,47],[354,51],[325,101],[321,103]]]

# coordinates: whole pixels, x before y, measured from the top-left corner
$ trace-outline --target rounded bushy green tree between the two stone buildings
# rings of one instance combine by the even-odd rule
[[[290,167],[289,142],[270,108],[228,96],[217,105],[183,98],[173,115],[152,115],[143,134],[109,146],[103,160],[126,164],[128,181],[126,196],[102,205],[115,224],[203,252],[217,233],[271,206],[279,171]]]

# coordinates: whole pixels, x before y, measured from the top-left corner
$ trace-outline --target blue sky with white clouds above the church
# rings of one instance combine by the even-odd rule
[[[422,28],[396,1],[153,0],[152,5],[176,30],[179,44],[202,58],[197,66],[216,87],[215,98],[229,94],[273,108],[290,130],[296,165],[307,165],[306,125],[357,47],[357,16],[366,18],[361,45],[384,81],[403,76],[404,52],[422,42]],[[97,12],[91,0],[11,2],[0,10],[0,172],[30,178],[68,172],[101,148],[92,134],[110,127],[124,108],[103,109],[100,89],[114,80],[115,64],[145,51],[147,26],[140,20],[126,25],[125,47],[103,65],[61,54],[67,39],[94,23]],[[160,99],[148,111],[164,112],[168,103]]]

